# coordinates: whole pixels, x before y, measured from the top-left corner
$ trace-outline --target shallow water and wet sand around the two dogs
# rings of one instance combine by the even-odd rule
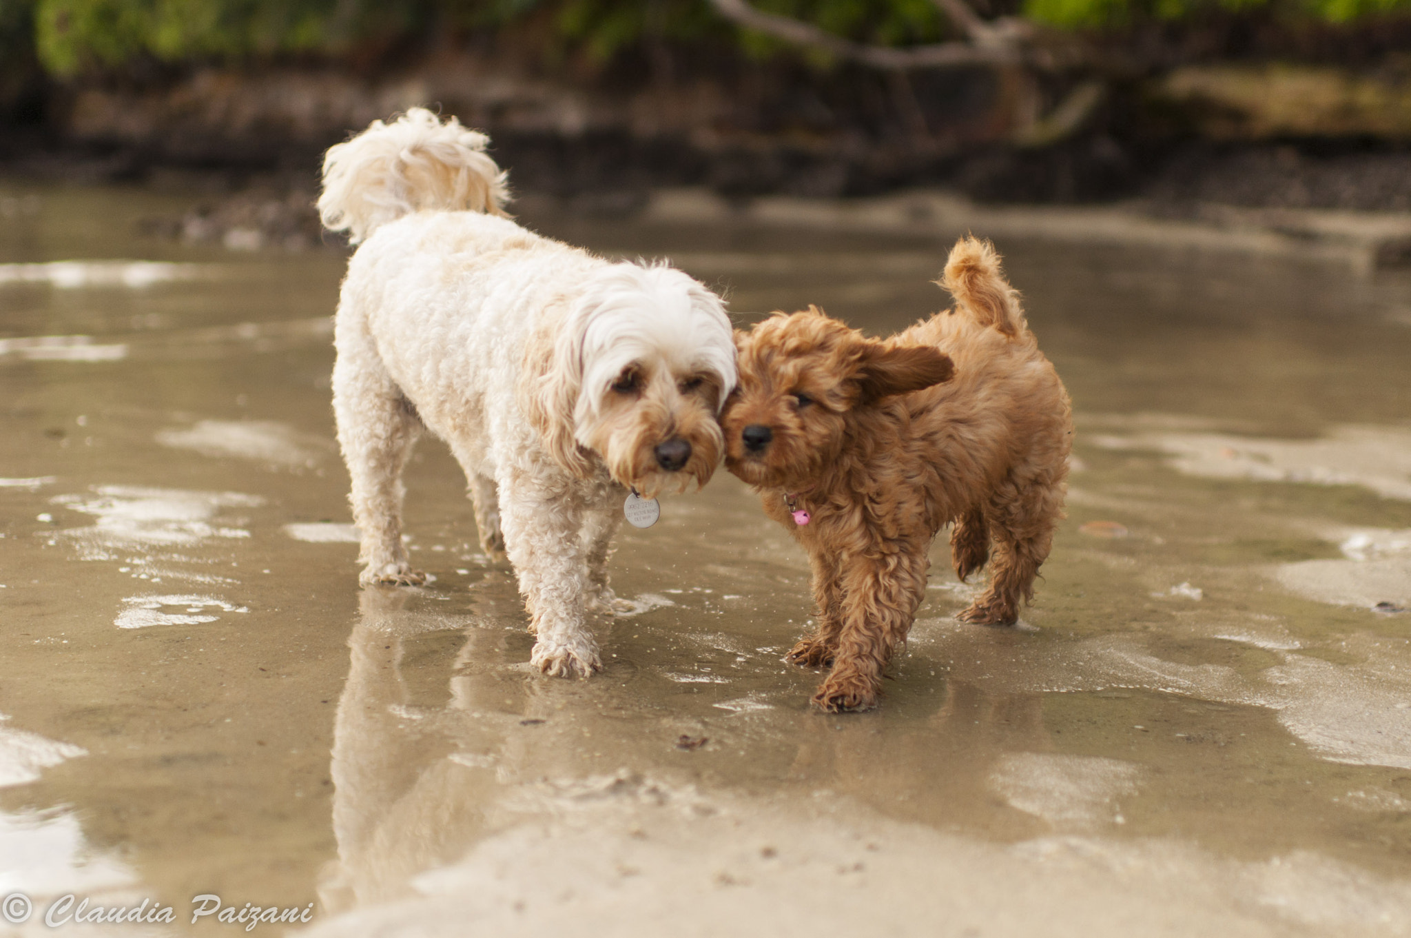
[[[436,441],[435,583],[357,587],[340,255],[0,196],[0,893],[327,935],[1411,934],[1411,281],[1000,244],[1078,413],[1070,518],[1013,629],[951,618],[943,539],[883,705],[825,717],[780,662],[803,554],[724,471],[619,535],[605,671],[540,677]],[[941,241],[528,221],[741,322],[941,305]]]

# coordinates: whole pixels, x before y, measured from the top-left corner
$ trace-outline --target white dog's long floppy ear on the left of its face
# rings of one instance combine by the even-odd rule
[[[519,406],[553,461],[579,478],[591,473],[574,439],[574,412],[583,392],[583,330],[567,309],[545,310],[525,346]],[[556,334],[557,333],[557,334]]]

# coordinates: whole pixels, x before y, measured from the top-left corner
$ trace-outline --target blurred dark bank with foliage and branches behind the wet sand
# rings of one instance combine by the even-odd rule
[[[591,213],[1411,207],[1408,0],[0,0],[11,176],[254,192],[227,213],[316,237],[319,154],[422,103]]]

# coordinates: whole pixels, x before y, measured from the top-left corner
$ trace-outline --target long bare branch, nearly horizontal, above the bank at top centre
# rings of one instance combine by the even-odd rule
[[[967,35],[972,37],[974,44],[934,42],[900,49],[886,45],[866,45],[844,39],[809,23],[756,10],[748,0],[711,0],[711,6],[727,20],[756,32],[763,32],[765,35],[772,35],[776,39],[793,42],[794,45],[823,49],[841,59],[862,62],[879,69],[903,71],[955,65],[999,65],[1020,61],[1017,48],[1020,35],[1009,21],[999,21],[1002,25],[985,23],[962,0],[934,1],[948,17],[957,21],[957,25]],[[951,13],[950,7],[952,4],[964,8],[959,17]]]

